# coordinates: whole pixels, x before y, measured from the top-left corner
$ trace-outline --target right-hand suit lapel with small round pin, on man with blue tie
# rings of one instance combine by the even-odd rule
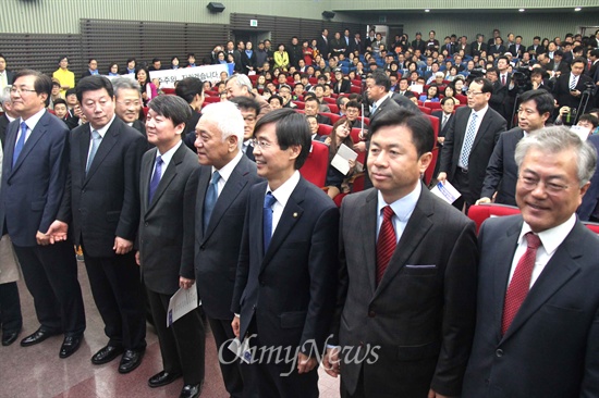
[[[306,183],[303,177],[300,177],[300,183],[297,183],[297,186],[291,194],[288,203],[283,209],[283,213],[281,214],[281,220],[279,220],[279,223],[277,224],[277,229],[274,229],[274,233],[272,234],[272,238],[270,239],[270,245],[268,246],[268,250],[265,253],[260,271],[264,270],[264,268],[266,266],[266,264],[268,264],[270,259],[272,259],[277,250],[279,250],[279,247],[283,244],[297,221],[302,219],[304,209],[300,204],[304,201],[304,196],[306,194],[305,184],[308,183]]]

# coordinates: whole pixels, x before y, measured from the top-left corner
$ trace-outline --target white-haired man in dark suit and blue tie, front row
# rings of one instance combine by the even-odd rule
[[[244,389],[245,396],[252,396],[249,390],[255,387],[246,368],[228,349],[228,341],[235,338],[231,328],[234,316],[231,300],[247,197],[252,186],[260,181],[256,174],[256,163],[240,150],[244,138],[243,119],[249,112],[255,124],[258,111],[259,105],[254,100],[233,98],[230,102],[207,105],[196,127],[197,159],[201,164],[197,199],[192,200],[195,207],[197,289],[210,322],[217,351],[222,356],[219,365],[224,386],[234,398],[243,397]],[[221,129],[223,125],[225,128]],[[252,125],[250,137],[253,130]]]

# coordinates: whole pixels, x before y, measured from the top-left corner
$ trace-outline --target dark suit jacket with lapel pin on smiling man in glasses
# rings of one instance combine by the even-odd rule
[[[265,182],[249,191],[231,311],[241,314],[242,337],[255,320],[262,345],[307,343],[308,355],[314,341],[321,351],[335,301],[339,210],[301,177],[264,253],[266,189]]]

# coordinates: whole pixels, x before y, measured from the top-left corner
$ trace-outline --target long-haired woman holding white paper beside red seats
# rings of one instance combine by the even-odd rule
[[[327,181],[325,182],[325,186],[328,188],[327,195],[329,195],[331,199],[334,199],[334,197],[341,192],[350,191],[346,181],[354,174],[356,165],[355,161],[349,161],[350,171],[347,172],[347,174],[343,174],[339,170],[333,167],[331,165],[331,161],[333,160],[342,144],[344,144],[349,148],[354,147],[354,140],[350,135],[351,130],[352,128],[350,127],[350,122],[345,117],[342,117],[333,125],[331,135],[325,138],[325,144],[329,146],[329,170],[327,172]]]

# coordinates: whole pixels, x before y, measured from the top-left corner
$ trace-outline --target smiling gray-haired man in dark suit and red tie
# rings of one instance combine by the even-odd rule
[[[599,239],[574,212],[597,152],[567,127],[516,148],[522,215],[478,240],[476,332],[462,397],[599,396]]]

